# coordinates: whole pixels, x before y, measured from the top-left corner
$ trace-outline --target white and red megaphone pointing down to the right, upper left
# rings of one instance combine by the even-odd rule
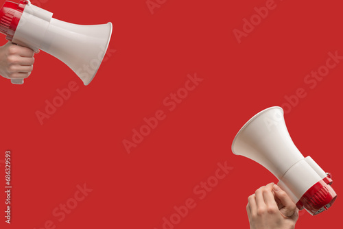
[[[0,32],[14,44],[58,58],[88,85],[104,59],[112,23],[75,25],[53,19],[51,12],[30,1],[5,1],[0,10]],[[11,82],[23,84],[23,79]]]

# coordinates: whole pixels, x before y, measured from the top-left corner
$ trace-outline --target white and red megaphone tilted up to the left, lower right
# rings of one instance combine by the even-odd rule
[[[280,107],[265,109],[252,117],[235,136],[232,151],[272,172],[300,210],[305,208],[311,215],[317,215],[335,202],[331,174],[299,152]]]

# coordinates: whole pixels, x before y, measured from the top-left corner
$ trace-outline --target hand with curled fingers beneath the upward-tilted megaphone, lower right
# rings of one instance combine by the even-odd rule
[[[246,211],[250,229],[293,229],[299,216],[296,204],[274,183],[250,195]]]

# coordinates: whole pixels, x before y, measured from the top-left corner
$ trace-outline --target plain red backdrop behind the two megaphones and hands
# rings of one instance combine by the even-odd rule
[[[11,225],[0,195],[1,228],[38,229],[51,220],[56,228],[160,229],[188,198],[196,208],[174,228],[248,228],[248,195],[277,180],[230,145],[252,115],[285,106],[298,88],[307,96],[285,115],[289,133],[342,193],[343,63],[316,88],[304,83],[329,51],[343,56],[342,3],[276,0],[238,43],[233,29],[242,30],[265,0],[153,2],[161,3],[154,14],[145,0],[32,1],[62,21],[112,22],[112,56],[88,86],[44,52],[22,86],[1,77],[0,162],[10,149],[13,186]],[[204,80],[169,112],[163,100],[195,73]],[[78,91],[40,125],[36,112],[71,81]],[[128,154],[122,141],[156,110],[166,118]],[[200,200],[193,189],[218,162],[233,170]],[[78,184],[93,191],[58,221],[53,210],[71,203]],[[340,225],[340,204],[339,196],[325,213],[300,213],[297,228]]]

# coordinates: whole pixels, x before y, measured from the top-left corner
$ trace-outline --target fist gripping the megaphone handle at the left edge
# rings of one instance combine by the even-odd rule
[[[34,51],[11,42],[0,47],[0,75],[8,79],[29,77],[34,66]]]

